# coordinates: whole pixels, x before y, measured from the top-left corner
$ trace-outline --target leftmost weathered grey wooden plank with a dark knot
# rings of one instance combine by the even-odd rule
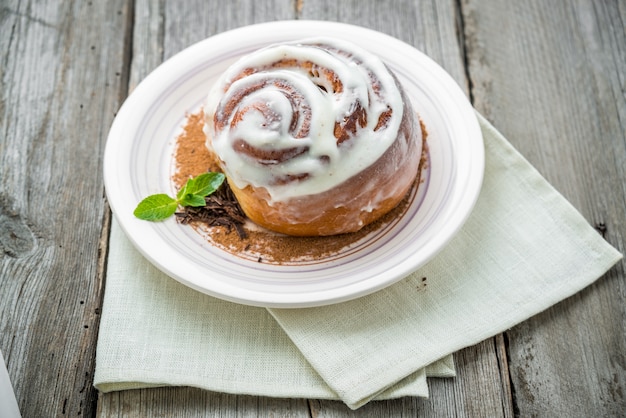
[[[25,417],[95,410],[101,161],[128,17],[123,0],[1,10],[0,347]]]

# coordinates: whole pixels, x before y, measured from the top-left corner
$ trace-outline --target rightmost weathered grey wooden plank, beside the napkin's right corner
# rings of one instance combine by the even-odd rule
[[[462,2],[477,108],[622,252],[623,2]],[[624,263],[506,334],[517,412],[622,416]]]

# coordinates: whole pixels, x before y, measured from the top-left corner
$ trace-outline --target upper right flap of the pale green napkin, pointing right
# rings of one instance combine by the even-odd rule
[[[435,259],[359,300],[270,309],[352,408],[384,390],[385,381],[391,385],[578,292],[621,258],[478,118],[486,157],[480,197],[460,233]]]

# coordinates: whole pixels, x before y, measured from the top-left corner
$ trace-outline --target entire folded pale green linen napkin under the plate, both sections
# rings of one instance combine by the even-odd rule
[[[95,386],[188,385],[351,408],[427,396],[427,374],[454,374],[451,353],[600,277],[621,255],[479,120],[485,181],[466,225],[420,271],[354,301],[269,311],[221,301],[164,276],[113,222]]]

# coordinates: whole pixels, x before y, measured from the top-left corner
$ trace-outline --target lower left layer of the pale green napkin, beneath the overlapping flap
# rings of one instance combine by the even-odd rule
[[[428,396],[427,374],[454,376],[452,357],[399,379],[377,398]],[[267,310],[216,299],[172,280],[141,256],[115,220],[94,384],[103,392],[193,386],[339,399]]]

